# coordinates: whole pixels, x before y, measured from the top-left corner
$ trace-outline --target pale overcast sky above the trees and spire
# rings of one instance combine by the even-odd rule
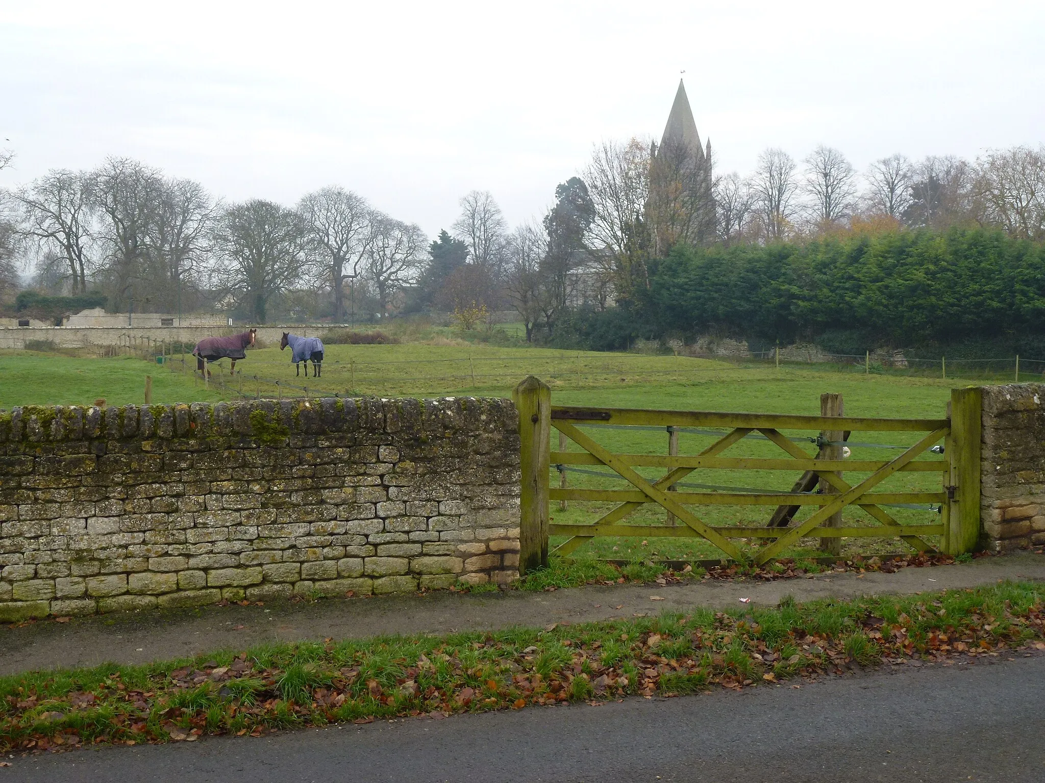
[[[1045,141],[1045,2],[0,0],[0,185],[130,156],[228,199],[339,184],[429,234],[515,223],[680,71],[718,170]],[[9,139],[9,141],[4,141]]]

